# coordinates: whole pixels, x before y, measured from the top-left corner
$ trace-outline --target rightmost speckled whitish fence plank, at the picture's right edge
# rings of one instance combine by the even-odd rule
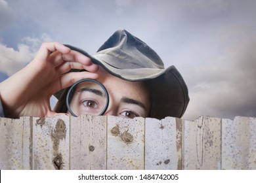
[[[223,119],[222,169],[256,169],[256,118]]]

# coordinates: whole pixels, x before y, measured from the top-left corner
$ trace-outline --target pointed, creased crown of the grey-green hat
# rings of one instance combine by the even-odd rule
[[[164,69],[160,56],[126,30],[116,31],[100,46],[94,57],[117,69]]]

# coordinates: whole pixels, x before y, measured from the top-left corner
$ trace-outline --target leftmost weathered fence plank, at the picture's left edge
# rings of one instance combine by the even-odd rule
[[[0,169],[31,169],[30,118],[0,118]]]

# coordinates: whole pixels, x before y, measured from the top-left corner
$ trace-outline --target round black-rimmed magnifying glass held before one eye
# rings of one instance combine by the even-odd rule
[[[89,78],[73,84],[66,96],[66,106],[73,116],[103,115],[108,108],[108,103],[109,96],[104,85]]]

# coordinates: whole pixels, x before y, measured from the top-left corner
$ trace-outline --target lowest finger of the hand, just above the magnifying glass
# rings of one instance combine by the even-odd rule
[[[97,73],[90,73],[90,72],[87,72],[87,71],[67,73],[67,74],[62,75],[60,77],[60,88],[58,88],[58,90],[68,88],[69,86],[72,86],[72,84],[74,84],[75,82],[77,82],[81,79],[85,79],[85,78],[97,79],[98,74]],[[54,92],[57,92],[58,90],[56,90]]]

